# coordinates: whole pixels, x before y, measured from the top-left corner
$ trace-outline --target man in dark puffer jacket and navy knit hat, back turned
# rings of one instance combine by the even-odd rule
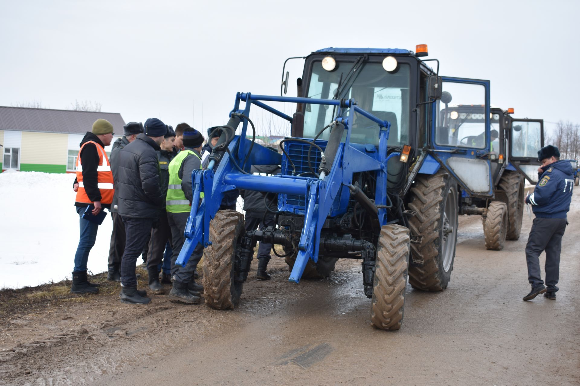
[[[144,133],[119,152],[117,171],[118,211],[125,224],[125,252],[121,260],[121,302],[149,303],[144,291],[137,291],[135,265],[146,236],[159,219],[165,197],[161,192],[157,159],[159,144],[167,131],[157,118],[147,119]]]

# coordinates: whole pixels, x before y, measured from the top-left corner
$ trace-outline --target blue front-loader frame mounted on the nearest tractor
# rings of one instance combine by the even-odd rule
[[[258,190],[280,194],[295,194],[306,197],[304,209],[304,225],[298,244],[298,255],[290,274],[289,281],[298,283],[306,267],[308,259],[314,262],[318,260],[319,237],[322,226],[331,210],[333,201],[342,190],[343,186],[350,185],[353,174],[361,171],[376,171],[375,203],[386,205],[387,196],[387,162],[391,157],[400,153],[391,153],[387,157],[387,139],[389,138],[390,122],[380,120],[371,113],[362,110],[354,100],[325,100],[313,98],[277,97],[270,95],[252,95],[251,93],[237,93],[234,109],[230,116],[243,114],[249,116],[251,105],[259,106],[277,116],[292,122],[292,118],[284,113],[264,104],[264,101],[309,103],[319,105],[338,106],[336,121],[342,123],[347,130],[346,140],[340,144],[329,174],[322,179],[313,177],[294,177],[289,175],[276,175],[263,177],[260,175],[242,174],[230,160],[228,153],[224,154],[219,166],[213,170],[213,162],[208,170],[195,170],[192,174],[193,203],[191,213],[187,219],[184,235],[186,241],[177,258],[177,264],[187,264],[195,246],[201,242],[204,247],[211,245],[209,241],[209,222],[218,212],[224,192],[233,189]],[[240,109],[240,103],[245,102],[245,108]],[[342,116],[349,109],[347,117]],[[361,145],[350,144],[351,127],[355,113],[364,115],[381,127],[378,152],[361,151]],[[235,162],[244,170],[249,171],[252,164],[280,164],[281,156],[266,149],[259,144],[254,144],[248,163],[241,165],[249,150],[249,140],[246,138],[248,120],[243,119],[240,135],[236,135],[230,142],[230,153],[235,157]],[[237,149],[237,150],[236,150]],[[200,194],[205,197],[200,199]],[[379,208],[379,223],[381,226],[387,223],[385,208]]]

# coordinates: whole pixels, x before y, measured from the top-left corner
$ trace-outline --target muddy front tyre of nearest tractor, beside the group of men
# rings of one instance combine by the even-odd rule
[[[204,253],[205,303],[218,310],[237,307],[243,282],[235,277],[238,238],[245,232],[244,215],[232,210],[219,211],[209,222],[209,241]]]

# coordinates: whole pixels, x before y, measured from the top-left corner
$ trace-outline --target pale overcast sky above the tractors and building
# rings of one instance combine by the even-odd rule
[[[426,43],[441,75],[491,80],[492,105],[548,128],[580,123],[579,10],[562,0],[0,0],[0,105],[88,100],[125,122],[204,130],[227,122],[237,91],[279,95],[287,57]],[[292,86],[302,63],[289,66]]]

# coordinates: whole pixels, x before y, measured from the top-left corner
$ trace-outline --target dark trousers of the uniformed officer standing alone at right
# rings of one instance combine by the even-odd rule
[[[548,291],[558,291],[560,274],[560,251],[562,236],[566,230],[566,219],[536,217],[532,223],[528,244],[525,246],[525,260],[528,264],[528,281],[533,288],[543,285],[539,256],[546,251],[546,286]]]

